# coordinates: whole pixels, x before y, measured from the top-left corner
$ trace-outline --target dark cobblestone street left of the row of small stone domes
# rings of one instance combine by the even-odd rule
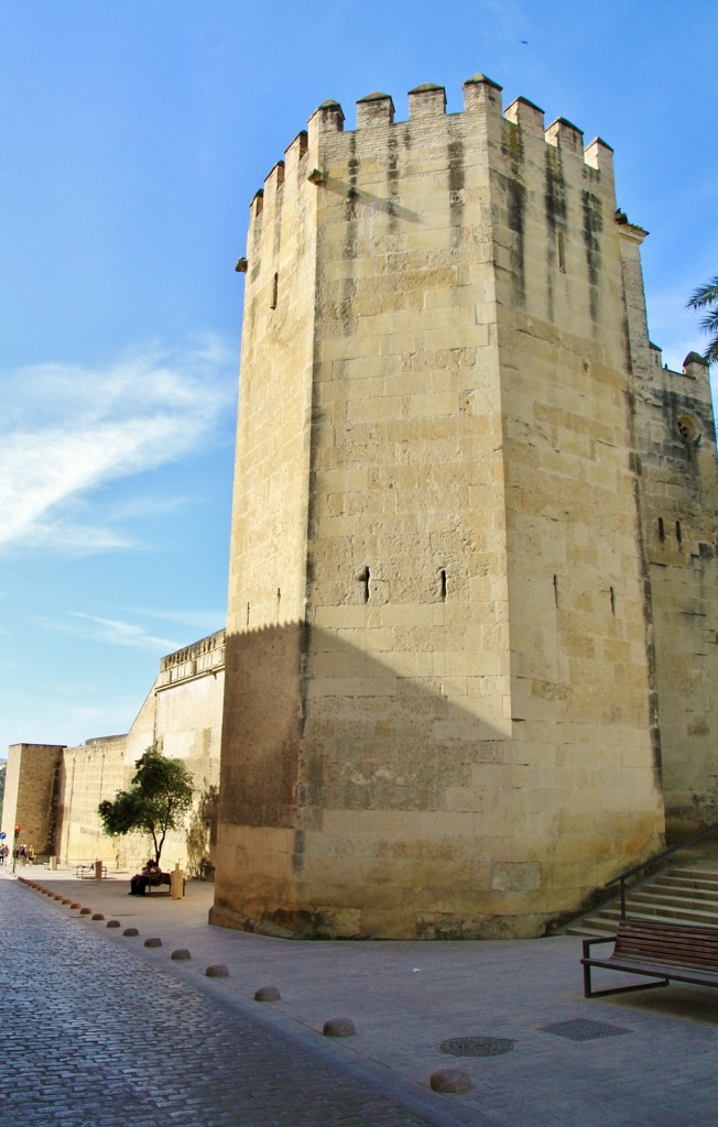
[[[10,881],[0,925],[2,1127],[441,1121]]]

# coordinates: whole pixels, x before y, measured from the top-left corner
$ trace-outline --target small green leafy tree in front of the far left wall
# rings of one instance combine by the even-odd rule
[[[192,774],[184,763],[166,758],[156,747],[148,747],[135,767],[130,790],[121,790],[112,802],[105,799],[97,809],[112,837],[150,834],[159,864],[167,834],[181,828],[192,806]]]

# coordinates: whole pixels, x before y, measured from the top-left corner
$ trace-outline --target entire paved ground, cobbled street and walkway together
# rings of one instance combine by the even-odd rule
[[[141,899],[126,876],[18,876],[91,912],[0,870],[2,1127],[716,1121],[718,993],[585,1000],[577,938],[287,941],[209,926],[209,884]],[[334,1018],[355,1033],[323,1036]],[[452,1067],[470,1090],[433,1092]]]

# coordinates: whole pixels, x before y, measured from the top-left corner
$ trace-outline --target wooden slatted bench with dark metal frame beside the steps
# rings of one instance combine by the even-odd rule
[[[596,943],[608,942],[614,943],[611,955],[602,959],[591,955],[591,948]],[[718,928],[622,920],[615,937],[584,939],[583,948],[584,956],[580,961],[584,968],[585,997],[621,994],[631,990],[650,990],[653,986],[667,986],[670,982],[718,986]],[[592,967],[645,975],[658,980],[593,990]]]

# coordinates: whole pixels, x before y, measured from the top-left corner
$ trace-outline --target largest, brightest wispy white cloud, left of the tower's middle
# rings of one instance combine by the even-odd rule
[[[227,417],[234,385],[231,354],[212,337],[181,353],[135,352],[105,369],[45,364],[3,374],[0,545],[70,553],[133,545],[133,505],[108,512],[94,490],[202,449]]]

